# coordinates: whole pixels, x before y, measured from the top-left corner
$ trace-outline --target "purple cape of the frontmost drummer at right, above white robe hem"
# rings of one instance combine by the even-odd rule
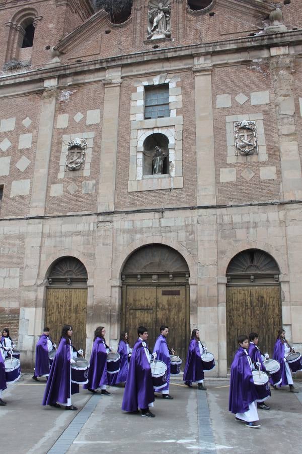
[[[229,411],[244,413],[249,410],[249,404],[257,399],[248,357],[245,350],[239,347],[231,366]]]

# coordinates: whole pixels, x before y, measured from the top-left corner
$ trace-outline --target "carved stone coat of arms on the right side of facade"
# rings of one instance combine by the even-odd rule
[[[234,125],[236,149],[241,154],[258,153],[256,122],[244,120]]]

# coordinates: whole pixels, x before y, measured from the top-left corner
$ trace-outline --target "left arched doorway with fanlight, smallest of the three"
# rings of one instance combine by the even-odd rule
[[[73,327],[72,344],[79,350],[86,347],[87,270],[74,257],[56,260],[48,273],[45,326],[58,345],[62,325]]]

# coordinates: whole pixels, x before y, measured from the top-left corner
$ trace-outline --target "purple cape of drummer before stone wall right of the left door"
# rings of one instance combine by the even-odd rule
[[[88,371],[88,383],[84,389],[98,389],[100,386],[108,384],[107,379],[107,352],[103,339],[97,337],[93,343],[90,368]]]

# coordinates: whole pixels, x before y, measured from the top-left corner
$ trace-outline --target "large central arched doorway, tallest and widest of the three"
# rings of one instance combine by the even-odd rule
[[[153,349],[159,328],[170,328],[168,344],[183,360],[190,336],[189,268],[175,249],[151,244],[137,249],[122,270],[121,330],[128,330],[130,343],[137,326],[148,328]]]

